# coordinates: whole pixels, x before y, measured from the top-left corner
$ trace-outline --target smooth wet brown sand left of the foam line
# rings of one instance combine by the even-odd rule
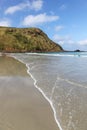
[[[24,64],[0,57],[0,130],[59,130]]]

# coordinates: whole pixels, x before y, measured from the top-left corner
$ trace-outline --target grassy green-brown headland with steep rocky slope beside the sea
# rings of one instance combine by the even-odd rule
[[[0,27],[1,52],[59,52],[62,47],[38,28]]]

